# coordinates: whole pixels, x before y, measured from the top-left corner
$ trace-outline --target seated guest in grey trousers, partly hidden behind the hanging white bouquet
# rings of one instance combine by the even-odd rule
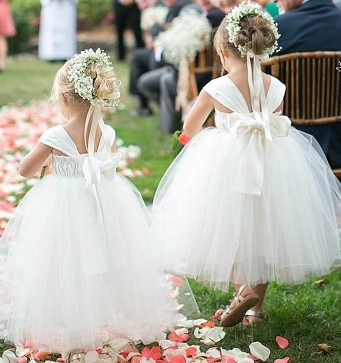
[[[212,28],[217,27],[225,14],[214,7],[209,0],[196,0],[198,10],[206,16]],[[181,13],[194,9],[187,5]],[[196,82],[199,90],[212,79],[212,73],[197,75]],[[181,112],[175,110],[177,97],[178,71],[171,66],[153,70],[142,75],[138,80],[138,89],[146,98],[160,105],[160,130],[172,133],[181,128]]]

